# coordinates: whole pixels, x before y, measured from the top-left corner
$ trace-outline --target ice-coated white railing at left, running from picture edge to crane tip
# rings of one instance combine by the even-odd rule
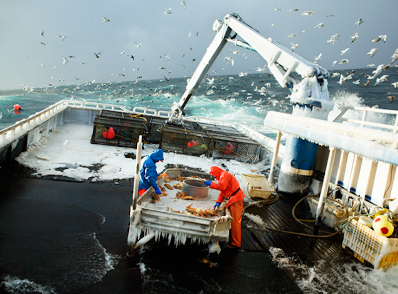
[[[14,124],[0,130],[0,149],[12,143],[16,139],[20,138],[27,132],[37,127],[38,125],[56,116],[58,113],[62,112],[68,107],[87,109],[87,110],[106,109],[112,111],[127,112],[132,114],[139,113],[144,115],[160,116],[164,118],[169,118],[171,115],[170,111],[164,111],[164,110],[156,111],[155,109],[149,109],[144,107],[134,107],[133,110],[131,111],[126,107],[116,104],[79,101],[79,100],[60,100],[57,103],[52,104],[47,108],[38,111],[35,114],[30,115],[27,118],[18,120]]]

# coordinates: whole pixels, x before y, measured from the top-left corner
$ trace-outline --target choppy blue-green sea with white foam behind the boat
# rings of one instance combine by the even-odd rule
[[[398,68],[386,69],[382,74],[389,75],[388,81],[374,86],[376,80],[368,81],[366,75],[372,75],[374,68],[355,70],[352,79],[342,85],[339,77],[329,78],[329,97],[335,108],[329,115],[334,118],[345,105],[375,106],[398,109],[398,99],[393,102],[389,96],[398,97],[398,89],[391,84],[398,81]],[[347,76],[347,71],[336,71]],[[330,72],[333,74],[334,72]],[[247,75],[245,75],[247,74]],[[210,81],[214,78],[213,83]],[[360,80],[360,84],[353,84]],[[27,88],[0,91],[0,129],[11,125],[21,118],[61,100],[76,99],[123,105],[129,109],[135,106],[156,110],[170,110],[174,101],[179,101],[185,91],[187,78],[166,80],[139,80],[138,83],[86,82],[80,85],[59,85],[48,88]],[[265,89],[263,93],[260,89]],[[26,90],[26,91],[24,91]],[[186,106],[187,115],[211,117],[226,121],[237,121],[249,125],[260,133],[270,131],[263,127],[268,111],[291,113],[292,106],[288,98],[290,92],[281,88],[268,73],[242,73],[233,76],[211,76],[204,79],[196,95]],[[22,111],[12,111],[13,105],[21,105]]]

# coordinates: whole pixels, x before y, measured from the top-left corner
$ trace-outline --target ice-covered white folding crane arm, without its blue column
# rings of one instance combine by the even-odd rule
[[[180,101],[174,102],[172,105],[173,115],[169,119],[170,122],[182,121],[188,100],[196,93],[201,81],[228,41],[233,42],[236,46],[258,52],[266,60],[270,72],[282,88],[288,87],[291,90],[292,102],[321,107],[324,110],[330,110],[330,107],[333,107],[329,101],[327,90],[329,73],[326,69],[308,62],[278,42],[261,34],[246,24],[236,13],[227,14],[222,22],[216,20],[213,30],[217,33],[192,78],[188,81],[186,91]],[[236,36],[230,38],[232,30],[245,42],[237,40]],[[292,72],[299,74],[302,80],[297,81]]]

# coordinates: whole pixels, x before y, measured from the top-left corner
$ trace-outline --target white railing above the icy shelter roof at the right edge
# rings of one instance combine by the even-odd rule
[[[362,111],[362,119],[355,119],[355,118],[346,118],[343,117],[343,115],[348,111],[348,110],[354,110],[354,111]],[[390,114],[390,115],[395,115],[395,124],[386,124],[386,123],[378,123],[378,122],[373,122],[373,121],[368,121],[368,114],[369,112],[373,113],[383,113],[383,114]],[[385,130],[392,130],[392,132],[395,134],[398,132],[398,110],[390,110],[390,109],[380,109],[380,108],[373,108],[373,107],[357,107],[357,106],[346,106],[341,110],[340,114],[338,114],[334,119],[334,122],[350,122],[354,124],[359,124],[361,127],[368,126],[368,127],[373,127],[373,128],[381,128]]]

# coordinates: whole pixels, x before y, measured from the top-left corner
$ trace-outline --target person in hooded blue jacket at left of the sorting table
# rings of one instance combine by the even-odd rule
[[[144,192],[147,191],[150,187],[153,187],[153,189],[155,189],[156,194],[162,194],[158,187],[158,184],[156,184],[156,180],[159,176],[161,176],[156,172],[156,163],[159,161],[163,162],[163,159],[164,158],[162,149],[157,149],[149,156],[145,157],[140,170],[138,196],[144,194]]]

